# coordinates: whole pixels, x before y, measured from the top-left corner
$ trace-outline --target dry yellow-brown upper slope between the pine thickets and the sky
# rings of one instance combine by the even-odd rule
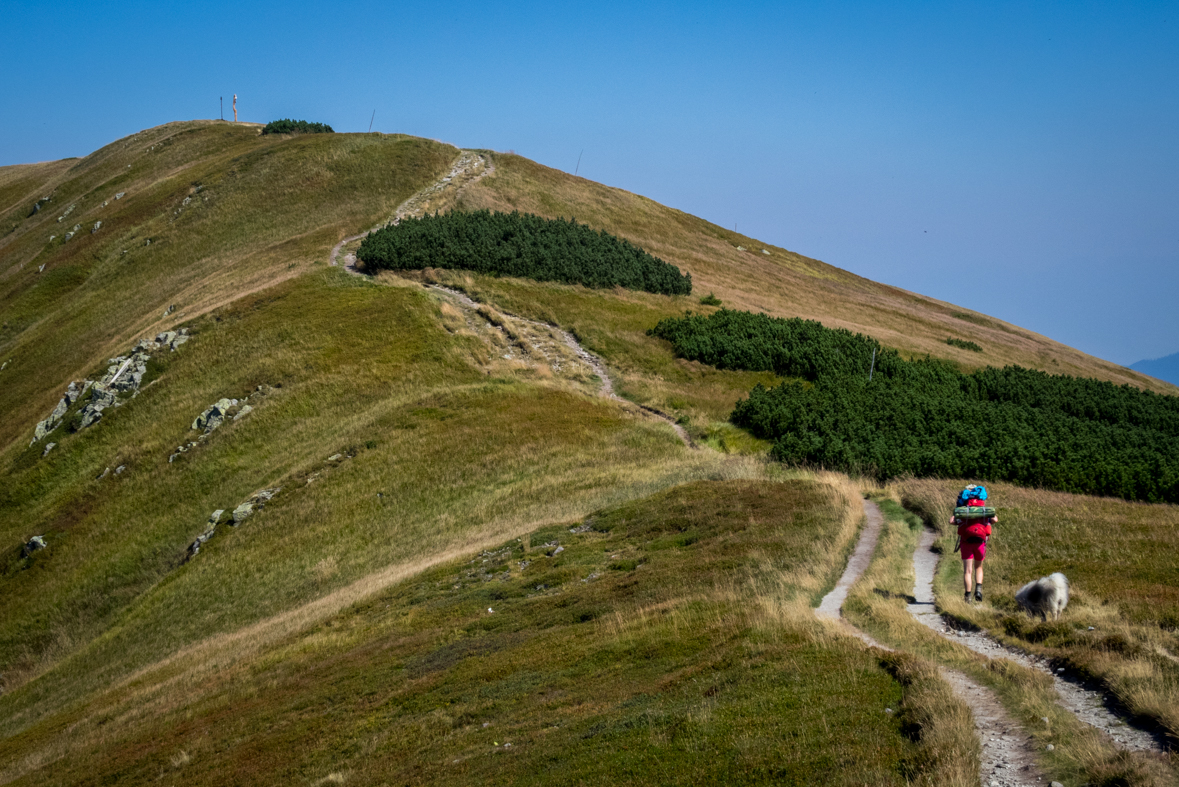
[[[909,356],[950,358],[967,370],[1020,364],[1177,392],[1173,385],[1032,331],[861,278],[645,197],[574,178],[519,156],[495,154],[494,161],[495,176],[465,191],[459,207],[575,217],[690,271],[694,292],[714,292],[727,307],[817,319],[831,328],[867,333]],[[746,251],[738,251],[738,246]],[[763,249],[770,253],[762,253]],[[951,348],[947,337],[977,342],[983,352]]]

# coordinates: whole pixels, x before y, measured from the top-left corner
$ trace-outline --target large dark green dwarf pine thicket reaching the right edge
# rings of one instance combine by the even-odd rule
[[[732,414],[785,462],[1179,502],[1175,397],[1019,366],[964,375],[858,333],[750,312],[667,318],[652,333],[684,358],[802,378],[756,386]]]

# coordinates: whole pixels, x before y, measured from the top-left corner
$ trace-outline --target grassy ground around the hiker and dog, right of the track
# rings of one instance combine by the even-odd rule
[[[908,480],[891,489],[938,528],[938,543],[950,554],[946,522],[962,485]],[[962,603],[960,564],[946,560],[936,587],[947,611],[1099,679],[1132,713],[1179,740],[1179,507],[1008,484],[988,489],[1000,524],[987,551],[987,603]],[[1053,571],[1069,580],[1068,609],[1060,621],[1040,622],[1019,609],[1015,591]]]

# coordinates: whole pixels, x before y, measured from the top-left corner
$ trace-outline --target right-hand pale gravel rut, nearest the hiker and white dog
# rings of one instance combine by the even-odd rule
[[[933,545],[936,538],[933,530],[922,531],[917,549],[913,553],[913,569],[917,577],[913,588],[913,597],[916,603],[909,604],[909,613],[917,621],[988,659],[1008,659],[1022,667],[1052,675],[1061,707],[1085,723],[1106,733],[1119,748],[1134,752],[1161,753],[1164,750],[1164,742],[1160,738],[1129,726],[1111,710],[1114,702],[1107,693],[1086,688],[1081,683],[1069,680],[1065,676],[1063,670],[1054,672],[1047,660],[1040,656],[1008,648],[981,631],[966,631],[950,627],[946,619],[937,613],[934,600],[934,576],[937,573],[938,555],[933,551]]]

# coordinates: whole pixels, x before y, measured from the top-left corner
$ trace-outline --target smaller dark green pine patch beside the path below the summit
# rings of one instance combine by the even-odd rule
[[[369,270],[450,267],[540,282],[690,295],[692,277],[574,219],[452,211],[371,233],[356,252]]]

